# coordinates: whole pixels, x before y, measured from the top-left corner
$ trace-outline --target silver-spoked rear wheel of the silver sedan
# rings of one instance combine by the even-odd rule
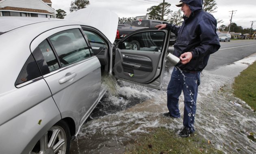
[[[66,154],[69,146],[69,127],[61,120],[41,137],[29,154]]]

